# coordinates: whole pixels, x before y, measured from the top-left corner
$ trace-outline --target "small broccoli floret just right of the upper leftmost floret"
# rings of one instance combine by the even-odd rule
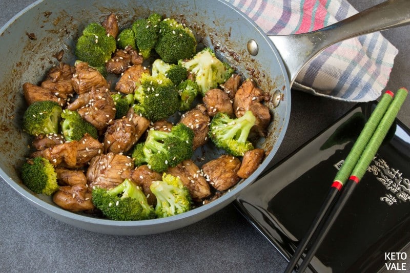
[[[61,132],[67,141],[80,140],[85,134],[97,139],[97,129],[90,122],[83,119],[77,111],[63,110],[61,113]]]

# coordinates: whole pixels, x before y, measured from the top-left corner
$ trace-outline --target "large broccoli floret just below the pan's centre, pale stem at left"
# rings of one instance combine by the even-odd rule
[[[150,130],[145,142],[135,145],[132,158],[136,166],[147,163],[153,171],[163,172],[191,158],[193,139],[194,132],[183,123],[167,132]]]

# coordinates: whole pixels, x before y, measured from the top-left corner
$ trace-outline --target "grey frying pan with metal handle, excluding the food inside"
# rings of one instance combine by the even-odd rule
[[[272,161],[288,126],[291,86],[298,71],[325,47],[357,35],[408,24],[407,0],[393,0],[364,11],[336,25],[308,34],[267,36],[246,15],[223,1],[174,0],[93,0],[37,1],[14,16],[0,29],[0,175],[14,190],[40,211],[60,221],[92,232],[115,235],[146,235],[167,232],[199,221],[229,204],[251,184]],[[19,167],[29,153],[31,137],[21,128],[26,103],[24,82],[37,83],[57,64],[52,56],[64,50],[63,61],[73,64],[74,40],[91,22],[101,22],[108,14],[118,16],[120,27],[152,12],[184,20],[196,33],[201,46],[215,49],[219,58],[244,77],[254,78],[272,95],[268,103],[273,114],[268,135],[256,143],[267,151],[258,169],[218,199],[180,215],[144,220],[112,221],[75,214],[57,207],[50,197],[35,195],[19,178]],[[221,151],[207,146],[206,153],[194,157],[201,165]]]

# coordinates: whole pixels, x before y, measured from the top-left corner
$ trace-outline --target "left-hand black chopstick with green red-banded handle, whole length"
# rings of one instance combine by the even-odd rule
[[[308,245],[309,241],[311,240],[313,234],[315,233],[316,229],[318,228],[319,224],[322,222],[322,219],[326,215],[327,211],[329,211],[331,205],[336,200],[336,197],[339,195],[344,183],[347,181],[348,176],[353,171],[353,168],[357,161],[359,160],[360,154],[363,152],[364,147],[366,146],[367,142],[372,137],[373,133],[375,132],[377,125],[379,124],[380,120],[382,119],[384,113],[387,111],[388,106],[392,102],[394,94],[391,91],[386,91],[382,98],[380,99],[379,103],[375,110],[373,111],[370,118],[364,124],[363,130],[361,131],[360,135],[358,136],[356,142],[354,143],[352,150],[347,155],[344,163],[342,164],[341,168],[337,172],[335,179],[329,189],[329,193],[327,193],[326,199],[322,203],[320,207],[319,213],[316,215],[316,218],[313,220],[308,232],[303,237],[303,239],[299,242],[298,247],[295,250],[294,255],[292,256],[291,260],[289,261],[288,266],[285,269],[285,273],[292,272],[293,268],[296,266],[297,262],[299,261],[300,257],[303,255],[303,252]]]

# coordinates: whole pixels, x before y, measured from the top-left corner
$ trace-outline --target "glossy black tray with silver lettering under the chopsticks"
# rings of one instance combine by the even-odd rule
[[[286,258],[293,255],[375,103],[358,104],[265,172],[235,205]],[[377,272],[410,242],[410,130],[398,119],[309,269]]]

